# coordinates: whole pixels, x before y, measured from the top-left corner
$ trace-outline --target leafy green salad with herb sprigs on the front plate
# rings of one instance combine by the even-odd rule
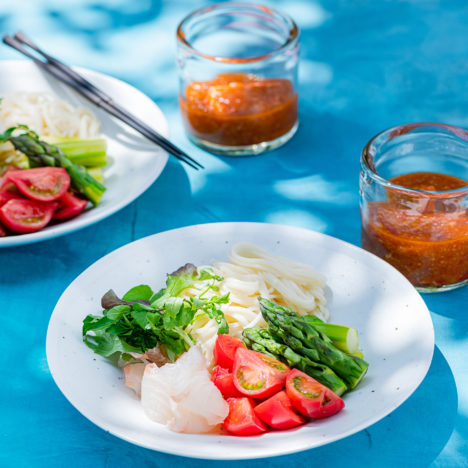
[[[206,297],[210,290],[219,291],[222,280],[211,269],[198,273],[195,265],[188,263],[168,275],[166,287],[156,293],[147,285],[139,285],[119,299],[110,290],[101,301],[103,315],[88,315],[83,320],[83,341],[101,356],[120,353],[124,360],[131,359],[128,353],[144,353],[159,346],[174,361],[194,344],[186,328],[198,311],[216,320],[218,334],[229,332],[220,308],[229,302],[229,293]],[[200,281],[206,281],[200,294],[179,297]]]

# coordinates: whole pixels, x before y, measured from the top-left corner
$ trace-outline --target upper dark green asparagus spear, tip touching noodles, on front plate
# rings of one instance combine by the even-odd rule
[[[311,323],[301,320],[300,317],[285,314],[281,307],[277,307],[271,301],[262,298],[259,301],[260,310],[267,323],[273,324],[276,330],[283,330],[283,336],[296,338],[293,341],[294,345],[288,341],[294,351],[330,367],[350,389],[356,387],[369,367],[366,361],[356,356],[349,356],[333,346],[330,340],[324,339],[323,333]],[[312,356],[317,356],[318,359]]]

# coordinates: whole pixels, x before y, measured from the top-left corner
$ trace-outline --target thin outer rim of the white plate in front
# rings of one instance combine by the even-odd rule
[[[409,391],[404,396],[404,398],[401,399],[401,401],[399,401],[399,403],[396,406],[388,408],[383,413],[378,413],[377,416],[369,418],[369,419],[363,421],[361,424],[358,424],[358,425],[352,427],[348,431],[345,431],[343,433],[335,434],[334,436],[328,437],[326,439],[326,441],[324,441],[323,443],[319,442],[319,443],[313,444],[313,445],[311,445],[309,447],[302,447],[302,448],[299,448],[299,449],[298,448],[291,448],[291,449],[282,448],[282,449],[275,450],[272,453],[258,454],[258,455],[253,454],[253,453],[248,453],[248,454],[242,454],[240,456],[229,456],[229,454],[226,453],[225,456],[224,455],[219,456],[219,454],[217,454],[216,458],[214,458],[212,456],[209,456],[209,454],[202,452],[202,450],[200,450],[200,449],[198,450],[198,453],[196,455],[193,455],[193,454],[184,455],[184,454],[182,454],[180,452],[177,452],[177,451],[174,451],[174,450],[172,450],[170,448],[165,448],[164,446],[156,448],[154,445],[142,443],[141,441],[136,440],[132,436],[123,436],[122,434],[117,434],[116,431],[114,431],[112,429],[111,424],[107,425],[107,424],[102,424],[101,422],[98,423],[98,422],[96,422],[94,417],[90,417],[88,415],[85,415],[71,401],[69,396],[62,390],[62,387],[60,386],[59,382],[57,381],[57,380],[60,381],[60,377],[58,377],[57,374],[54,372],[55,371],[54,366],[51,365],[51,362],[50,362],[50,353],[51,353],[51,348],[52,348],[52,342],[51,342],[52,338],[49,335],[49,330],[51,329],[51,324],[53,322],[54,314],[56,313],[56,310],[58,309],[62,299],[64,298],[64,296],[67,293],[67,291],[69,290],[69,288],[71,288],[72,285],[75,282],[78,282],[80,280],[80,278],[85,276],[86,273],[88,272],[88,270],[95,267],[96,264],[98,264],[101,261],[104,261],[104,259],[107,258],[107,257],[110,257],[112,255],[118,255],[119,251],[128,248],[130,245],[134,245],[134,244],[137,244],[139,242],[145,242],[145,241],[148,241],[150,238],[155,238],[155,237],[160,236],[160,235],[169,235],[170,233],[173,233],[175,231],[191,231],[191,230],[196,231],[197,229],[204,228],[204,227],[206,228],[207,226],[208,227],[210,227],[210,226],[213,226],[213,227],[215,227],[215,226],[226,226],[226,227],[228,227],[228,226],[240,226],[240,225],[245,226],[245,227],[248,227],[248,226],[257,226],[257,227],[258,226],[264,226],[264,227],[271,226],[271,227],[278,228],[278,229],[286,229],[286,230],[291,229],[291,230],[302,231],[304,233],[307,232],[309,234],[312,233],[314,236],[317,236],[318,238],[320,238],[320,237],[328,238],[332,242],[337,242],[338,244],[344,245],[346,248],[351,248],[352,251],[358,251],[361,254],[362,254],[362,252],[364,252],[366,255],[367,254],[370,255],[371,257],[373,257],[374,261],[377,261],[384,268],[387,268],[387,269],[389,269],[389,271],[392,271],[393,274],[397,274],[400,277],[400,279],[403,279],[404,281],[406,281],[408,283],[408,285],[411,286],[411,288],[413,288],[411,283],[406,279],[406,277],[404,275],[402,275],[398,270],[396,270],[389,263],[385,262],[380,257],[372,254],[371,252],[368,252],[368,251],[360,248],[357,245],[351,244],[351,243],[349,243],[347,241],[344,241],[342,239],[339,239],[337,237],[334,237],[334,236],[331,236],[331,235],[328,235],[328,234],[325,234],[325,233],[321,233],[321,232],[318,232],[318,231],[314,231],[314,230],[311,230],[311,229],[299,227],[299,226],[292,226],[292,225],[285,225],[285,224],[278,224],[278,223],[267,223],[267,222],[249,222],[249,221],[246,221],[246,222],[215,222],[215,223],[208,222],[208,223],[200,223],[200,224],[194,224],[194,225],[189,225],[189,226],[183,226],[183,227],[179,227],[179,228],[173,228],[173,229],[157,232],[157,233],[154,233],[154,234],[151,234],[151,235],[136,239],[136,240],[134,240],[132,242],[129,242],[129,243],[125,244],[125,245],[122,245],[122,246],[118,247],[117,249],[113,250],[112,252],[107,253],[106,255],[102,256],[101,258],[99,258],[98,260],[93,262],[91,265],[89,265],[85,270],[83,270],[66,287],[66,289],[63,291],[63,293],[60,295],[60,298],[58,299],[58,301],[56,303],[56,306],[54,307],[54,310],[53,310],[53,312],[51,314],[51,318],[49,320],[49,324],[48,324],[48,327],[47,327],[47,337],[46,337],[46,356],[47,356],[47,363],[48,363],[48,366],[49,366],[50,373],[52,375],[52,378],[54,379],[55,384],[57,385],[60,392],[62,393],[62,395],[65,396],[65,398],[69,401],[69,403],[81,415],[83,415],[86,419],[88,419],[93,424],[95,424],[98,428],[100,428],[100,429],[114,435],[115,437],[118,437],[121,440],[124,440],[124,441],[126,441],[128,443],[134,444],[134,445],[139,446],[139,447],[144,447],[146,449],[153,450],[153,451],[156,451],[156,452],[166,453],[166,454],[175,455],[175,456],[181,456],[181,457],[185,457],[185,458],[204,459],[204,460],[218,460],[218,461],[224,461],[224,460],[226,460],[226,461],[253,460],[253,459],[271,458],[271,457],[289,455],[289,454],[294,454],[294,453],[300,453],[300,452],[304,452],[306,450],[312,450],[314,448],[322,447],[322,446],[331,444],[333,442],[345,439],[345,438],[347,438],[347,437],[349,437],[349,436],[351,436],[353,434],[356,434],[356,433],[358,433],[358,432],[360,432],[360,431],[362,431],[362,430],[376,424],[377,422],[379,422],[382,419],[384,419],[385,417],[387,417],[389,414],[391,414],[393,411],[395,411],[397,408],[399,408],[405,401],[407,401],[411,397],[411,395],[413,395],[413,393],[419,388],[419,386],[423,382],[424,378],[426,377],[427,372],[429,371],[429,368],[430,368],[432,360],[433,360],[433,355],[434,355],[434,350],[435,350],[435,333],[434,333],[434,325],[433,325],[433,321],[432,321],[430,311],[429,311],[424,299],[422,298],[421,294],[419,294],[419,292],[416,289],[413,288],[414,294],[419,297],[418,300],[419,300],[421,306],[424,308],[425,313],[427,314],[427,318],[428,318],[428,321],[430,323],[430,332],[431,332],[431,336],[428,337],[428,339],[430,340],[430,356],[427,356],[427,359],[425,361],[425,368],[424,368],[423,372],[421,372],[418,381],[414,384],[414,387],[411,389],[411,391]],[[279,433],[281,433],[281,432],[271,432],[271,433],[267,433],[267,434],[279,434]],[[267,434],[265,434],[265,435],[267,435]],[[177,437],[178,435],[179,435],[178,433],[174,433],[175,437]],[[181,435],[186,436],[186,435],[194,435],[194,434],[181,434]],[[239,437],[237,439],[242,439],[242,438]],[[274,441],[272,441],[272,442],[274,442]],[[259,450],[262,450],[262,448],[260,448]]]

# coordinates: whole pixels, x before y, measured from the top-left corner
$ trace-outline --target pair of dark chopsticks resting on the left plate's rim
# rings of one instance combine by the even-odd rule
[[[195,161],[195,159],[184,153],[181,149],[177,148],[177,146],[175,146],[169,140],[164,138],[152,128],[148,127],[148,125],[125,110],[123,107],[116,104],[110,96],[101,91],[99,88],[96,88],[96,86],[72,70],[69,66],[41,50],[22,32],[16,32],[13,37],[8,35],[3,36],[3,42],[10,47],[13,47],[13,49],[21,52],[26,57],[29,57],[34,61],[34,63],[39,65],[41,68],[44,68],[58,80],[71,86],[73,89],[78,91],[78,93],[91,101],[94,105],[104,109],[106,112],[113,115],[122,122],[125,122],[137,132],[148,138],[148,140],[151,140],[153,143],[156,143],[162,149],[166,150],[168,153],[174,155],[176,158],[180,159],[196,170],[204,168],[199,162]],[[24,46],[29,47],[34,52],[37,52],[45,60],[39,59]]]

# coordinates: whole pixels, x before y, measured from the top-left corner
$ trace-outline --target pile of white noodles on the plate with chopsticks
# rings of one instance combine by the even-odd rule
[[[3,129],[27,125],[42,137],[97,138],[100,122],[85,107],[73,107],[49,93],[12,93],[2,97],[0,123]]]

